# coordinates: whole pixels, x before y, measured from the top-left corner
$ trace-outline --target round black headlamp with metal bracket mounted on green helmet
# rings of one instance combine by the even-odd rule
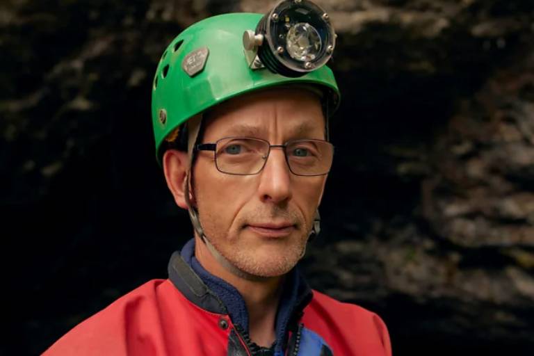
[[[245,31],[243,46],[252,69],[297,77],[325,65],[336,34],[328,14],[309,0],[284,0]]]

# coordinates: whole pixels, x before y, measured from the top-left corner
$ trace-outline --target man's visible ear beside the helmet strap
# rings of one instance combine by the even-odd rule
[[[176,204],[183,209],[187,209],[184,195],[188,165],[189,157],[187,152],[168,149],[163,154],[163,172],[165,173],[167,186],[172,196],[175,197]]]

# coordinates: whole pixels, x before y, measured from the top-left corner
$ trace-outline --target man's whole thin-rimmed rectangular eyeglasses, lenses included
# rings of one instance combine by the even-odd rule
[[[271,148],[284,149],[293,175],[326,175],[332,167],[334,146],[325,140],[292,140],[271,145],[267,140],[251,137],[227,137],[216,143],[195,145],[195,151],[213,151],[220,172],[229,175],[257,175],[265,167]]]

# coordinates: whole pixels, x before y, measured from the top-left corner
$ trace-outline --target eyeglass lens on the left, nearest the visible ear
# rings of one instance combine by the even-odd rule
[[[269,143],[257,138],[223,138],[217,141],[218,170],[230,175],[255,175],[264,167]]]

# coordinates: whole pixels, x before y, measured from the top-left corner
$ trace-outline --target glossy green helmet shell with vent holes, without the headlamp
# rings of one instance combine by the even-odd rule
[[[169,133],[211,106],[245,92],[300,83],[321,88],[329,113],[339,106],[334,74],[325,65],[297,78],[266,68],[251,69],[243,33],[255,29],[262,16],[231,13],[209,17],[188,27],[165,49],[152,86],[152,124],[159,163]]]

